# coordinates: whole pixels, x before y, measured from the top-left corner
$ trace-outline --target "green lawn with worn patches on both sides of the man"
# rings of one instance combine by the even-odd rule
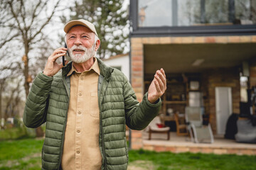
[[[41,169],[43,140],[26,139],[0,142],[0,170]],[[129,168],[167,169],[255,169],[256,156],[215,154],[172,154],[171,152],[129,151]]]

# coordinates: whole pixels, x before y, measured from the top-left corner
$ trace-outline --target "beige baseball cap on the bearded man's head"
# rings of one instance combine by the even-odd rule
[[[65,33],[68,33],[70,28],[72,28],[73,26],[78,26],[78,25],[79,26],[86,26],[87,28],[92,30],[93,33],[95,33],[97,35],[97,31],[95,29],[95,26],[92,23],[90,23],[89,21],[86,21],[84,19],[72,20],[72,21],[69,21],[68,23],[66,23],[65,26],[64,26]]]

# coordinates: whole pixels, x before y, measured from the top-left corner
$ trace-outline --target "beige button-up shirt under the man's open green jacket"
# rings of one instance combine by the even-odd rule
[[[70,103],[61,162],[63,170],[98,170],[102,166],[97,97],[100,69],[94,60],[89,70],[79,73],[72,66],[68,73],[71,75]]]

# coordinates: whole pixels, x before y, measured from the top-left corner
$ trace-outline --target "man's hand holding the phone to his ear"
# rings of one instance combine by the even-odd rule
[[[58,64],[56,60],[58,59],[58,57],[65,55],[67,50],[68,49],[65,47],[60,47],[56,49],[53,54],[48,57],[46,67],[43,70],[43,74],[46,74],[46,76],[48,77],[53,77],[56,73],[58,73],[58,71],[63,67],[63,64]],[[65,64],[68,64],[68,61],[65,61]]]

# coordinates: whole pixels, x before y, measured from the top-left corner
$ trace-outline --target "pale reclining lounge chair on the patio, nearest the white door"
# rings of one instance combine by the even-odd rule
[[[192,142],[214,142],[210,123],[203,125],[203,115],[200,107],[186,107],[185,119],[188,123],[188,132]]]

